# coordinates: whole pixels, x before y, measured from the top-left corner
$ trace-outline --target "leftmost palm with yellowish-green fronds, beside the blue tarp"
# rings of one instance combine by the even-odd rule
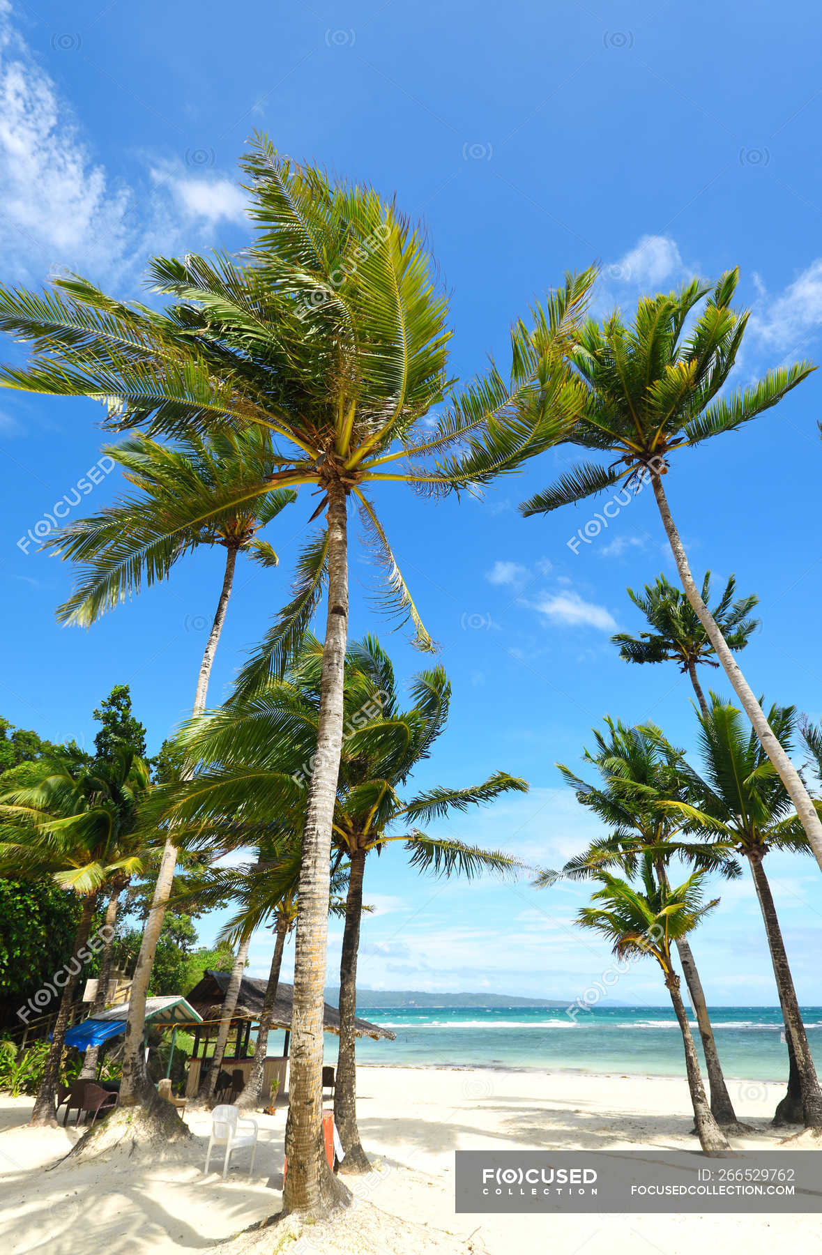
[[[118,752],[110,763],[98,759],[74,767],[53,759],[33,766],[39,768],[38,781],[0,797],[0,870],[23,877],[49,875],[83,900],[69,979],[31,1114],[33,1124],[44,1124],[56,1116],[63,1042],[100,892],[110,894],[107,922],[113,924],[113,904],[151,848],[137,831],[137,811],[149,778],[148,764],[128,750]]]

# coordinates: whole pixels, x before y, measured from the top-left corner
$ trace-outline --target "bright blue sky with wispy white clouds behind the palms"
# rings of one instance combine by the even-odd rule
[[[740,300],[753,310],[737,370],[747,383],[822,351],[817,24],[811,6],[782,21],[761,3],[518,0],[501,11],[486,0],[240,10],[212,0],[80,0],[67,13],[46,0],[0,0],[0,274],[36,286],[72,269],[142,297],[149,254],[242,246],[236,161],[260,128],[281,151],[395,192],[424,218],[451,291],[452,365],[463,378],[488,351],[503,359],[508,324],[535,295],[596,260],[601,311],[738,264]],[[5,356],[16,351],[4,345]],[[752,684],[812,718],[822,708],[821,388],[812,376],[668,479],[694,569],[718,580],[735,571],[740,591],[761,597],[762,633],[743,655]],[[54,739],[89,743],[90,710],[128,683],[156,749],[191,708],[220,557],[195,556],[164,589],[88,633],[56,628],[70,571],[28,537],[97,463],[99,420],[92,403],[0,395],[0,710]],[[449,728],[418,781],[467,784],[496,768],[525,776],[527,797],[449,831],[548,866],[595,832],[553,764],[577,766],[604,714],[653,718],[684,745],[694,732],[678,671],[629,668],[609,644],[617,629],[640,629],[625,586],[660,571],[675,577],[650,496],[576,552],[567,541],[595,505],[528,521],[517,513],[565,461],[565,451],[545,456],[484,501],[429,508],[402,488],[382,494],[454,688]],[[117,474],[95,472],[77,512],[99,510],[117,491]],[[270,530],[279,571],[242,565],[212,702],[287,599],[309,513],[301,505]],[[373,579],[356,551],[353,631],[380,631],[410,675],[424,659],[375,620],[365,597]],[[822,1003],[818,870],[809,860],[769,862],[799,996]],[[376,910],[364,925],[364,985],[572,999],[610,963],[572,929],[579,887],[537,895],[527,884],[434,882],[410,872],[397,848],[369,868],[365,896]],[[752,885],[724,886],[722,896],[694,941],[709,1000],[773,1003]],[[203,921],[203,940],[215,930]],[[331,983],[339,941],[333,925]],[[261,935],[255,974],[269,954]],[[639,965],[614,996],[653,1005],[664,990]]]

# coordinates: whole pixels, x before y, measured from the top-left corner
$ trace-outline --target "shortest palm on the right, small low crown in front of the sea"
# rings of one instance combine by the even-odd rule
[[[671,889],[659,884],[650,853],[640,858],[641,890],[626,880],[601,872],[596,878],[602,887],[582,906],[576,922],[601,932],[612,943],[619,958],[649,955],[663,970],[665,988],[683,1034],[688,1088],[694,1108],[699,1145],[705,1155],[720,1157],[730,1153],[725,1135],[714,1119],[699,1072],[697,1047],[690,1033],[688,1013],[679,993],[679,976],[674,971],[670,943],[686,936],[714,909],[717,901],[703,904],[702,881],[705,872],[695,871],[681,885]],[[601,904],[601,905],[600,905]]]

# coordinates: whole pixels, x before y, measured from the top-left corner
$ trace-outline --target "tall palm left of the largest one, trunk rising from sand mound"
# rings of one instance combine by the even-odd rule
[[[58,619],[88,626],[139,592],[143,584],[168,579],[183,555],[201,546],[221,546],[226,553],[222,587],[195,692],[193,714],[202,714],[237,555],[246,552],[264,566],[276,566],[275,551],[259,532],[296,493],[281,488],[255,494],[275,466],[270,433],[259,427],[216,433],[210,439],[192,433],[177,447],[136,433],[104,451],[123,467],[137,492],[99,515],[69,523],[49,541],[63,558],[82,563],[78,587],[58,609]],[[177,857],[176,846],[167,842],[134,968],[123,1057],[124,1103],[134,1096],[154,1101],[142,1049],[146,996]]]

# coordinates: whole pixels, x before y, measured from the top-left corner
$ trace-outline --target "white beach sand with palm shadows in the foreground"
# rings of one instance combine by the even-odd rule
[[[769,1119],[781,1086],[730,1082],[740,1118],[758,1132],[738,1148],[777,1148]],[[729,1247],[773,1255],[791,1242],[822,1255],[816,1216],[469,1216],[454,1215],[456,1150],[690,1148],[684,1081],[584,1073],[491,1069],[359,1069],[359,1123],[378,1172],[346,1178],[360,1201],[349,1220],[286,1240],[294,1255],[312,1251],[487,1252],[552,1255],[607,1250],[694,1255]],[[238,1152],[223,1182],[221,1161],[203,1176],[208,1117],[187,1118],[196,1138],[156,1165],[95,1162],[44,1171],[77,1141],[72,1127],[30,1130],[30,1098],[0,1094],[0,1255],[167,1255],[212,1247],[225,1255],[274,1251],[271,1229],[240,1236],[280,1207],[285,1107],[261,1116],[254,1177]],[[374,1209],[398,1217],[395,1222]],[[420,1231],[419,1226],[425,1226]],[[338,1232],[339,1241],[329,1234]],[[371,1236],[369,1236],[371,1235]]]

